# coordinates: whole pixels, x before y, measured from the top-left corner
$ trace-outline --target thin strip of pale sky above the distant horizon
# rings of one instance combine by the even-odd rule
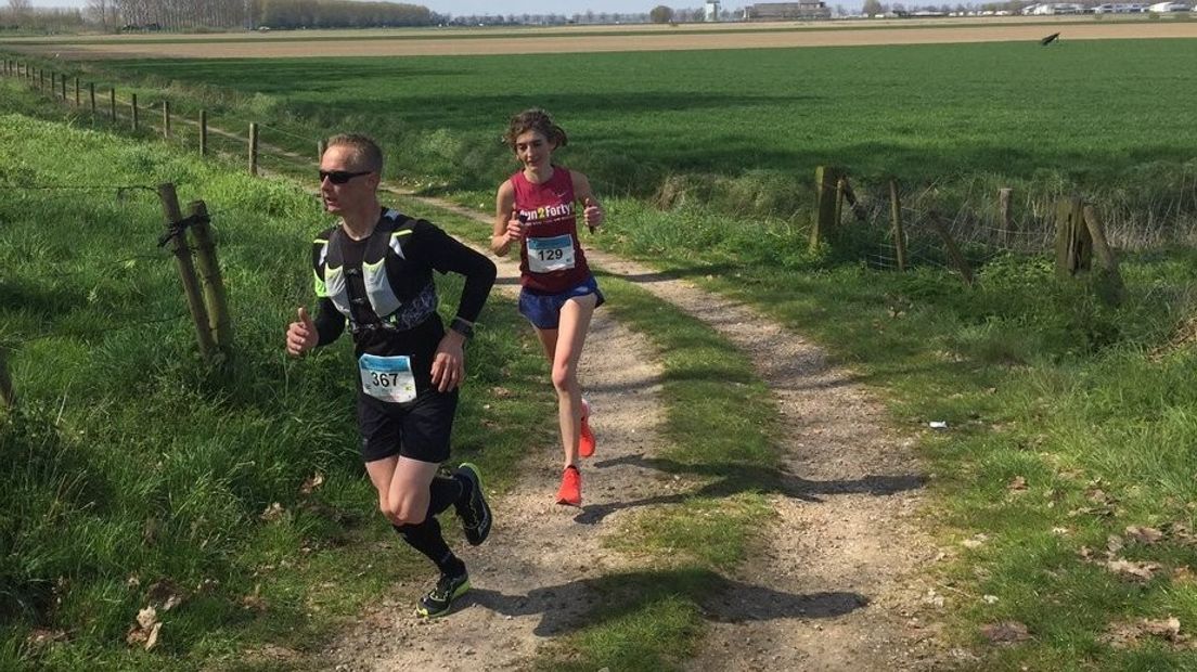
[[[595,13],[640,13],[657,5],[670,7],[701,7],[705,0],[408,0],[412,5],[424,5],[439,14],[573,14],[591,10]],[[38,7],[83,7],[86,0],[34,0]],[[752,0],[723,0],[724,10],[751,5]],[[844,2],[852,4],[851,1]],[[0,5],[7,6],[6,0]],[[830,2],[834,5],[834,2]]]

